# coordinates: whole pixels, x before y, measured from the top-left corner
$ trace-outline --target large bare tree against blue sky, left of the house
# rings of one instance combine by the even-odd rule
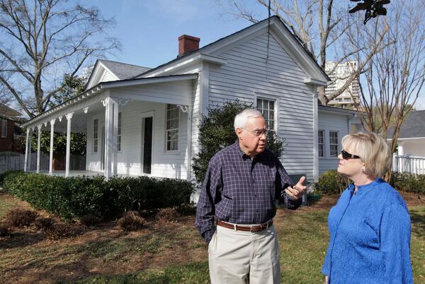
[[[45,111],[64,73],[119,48],[98,8],[67,0],[0,0],[0,85],[29,116]]]

